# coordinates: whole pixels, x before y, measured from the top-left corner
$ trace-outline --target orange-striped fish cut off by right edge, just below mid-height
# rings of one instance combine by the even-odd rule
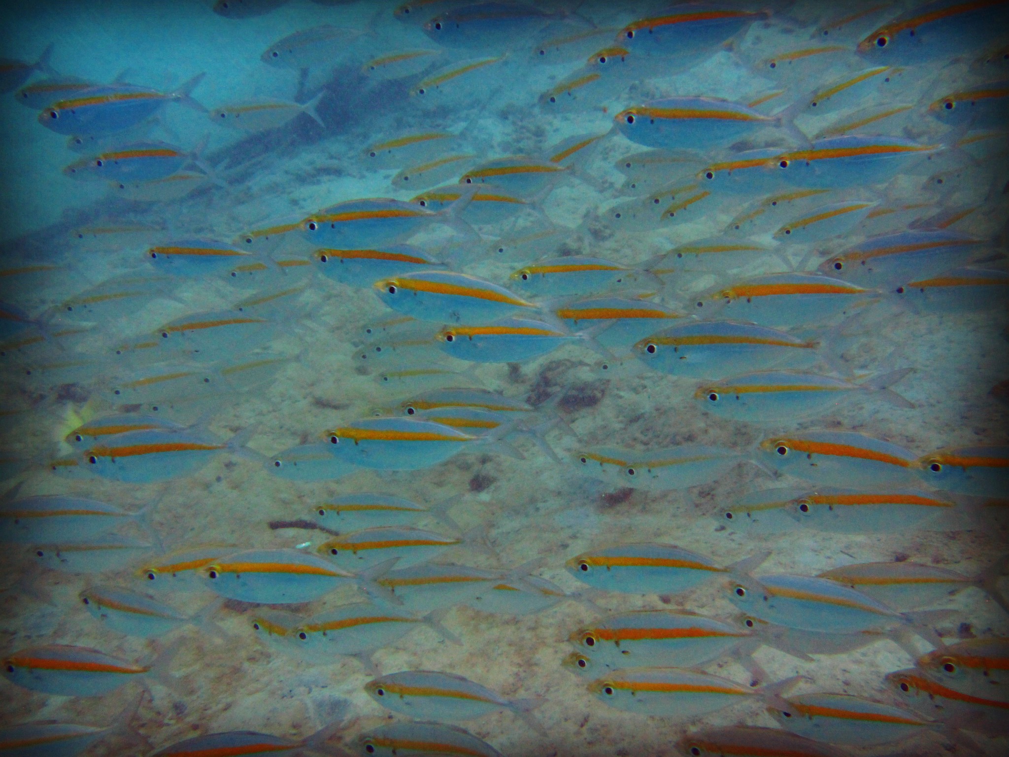
[[[943,492],[1004,497],[1009,491],[1009,447],[940,449],[917,463],[919,477]]]

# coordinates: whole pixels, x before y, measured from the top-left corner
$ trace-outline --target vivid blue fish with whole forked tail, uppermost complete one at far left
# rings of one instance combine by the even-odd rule
[[[46,106],[38,122],[58,134],[106,134],[135,126],[173,102],[205,111],[191,97],[203,78],[198,74],[167,93],[130,84],[94,87]]]

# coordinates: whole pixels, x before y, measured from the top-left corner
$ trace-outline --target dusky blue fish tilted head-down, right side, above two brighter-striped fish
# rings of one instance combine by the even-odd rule
[[[820,272],[864,286],[907,284],[970,262],[985,240],[949,229],[880,234],[827,258]]]

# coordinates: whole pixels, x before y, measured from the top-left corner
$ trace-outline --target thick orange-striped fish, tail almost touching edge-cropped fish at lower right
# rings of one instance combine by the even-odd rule
[[[916,457],[856,431],[805,431],[760,443],[769,464],[791,475],[835,486],[911,484]]]

